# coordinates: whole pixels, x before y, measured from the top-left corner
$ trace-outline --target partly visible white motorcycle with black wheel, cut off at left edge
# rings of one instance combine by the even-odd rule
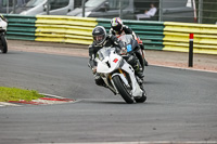
[[[2,53],[8,52],[8,43],[5,38],[8,23],[0,17],[0,51]]]

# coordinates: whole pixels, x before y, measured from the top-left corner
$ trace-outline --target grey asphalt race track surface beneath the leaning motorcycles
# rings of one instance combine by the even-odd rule
[[[0,107],[0,143],[217,141],[217,73],[145,67],[143,104],[97,87],[87,57],[10,51],[0,54],[0,86],[76,100]]]

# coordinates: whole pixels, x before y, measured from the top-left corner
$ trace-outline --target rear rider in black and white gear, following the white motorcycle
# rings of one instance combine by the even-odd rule
[[[116,36],[117,38],[123,34],[127,34],[127,35],[132,35],[132,38],[137,39],[136,32],[128,26],[124,25],[123,21],[119,17],[112,18],[110,34]],[[139,45],[142,50],[144,50],[142,43],[139,43]],[[146,60],[144,64],[145,66],[148,66]]]

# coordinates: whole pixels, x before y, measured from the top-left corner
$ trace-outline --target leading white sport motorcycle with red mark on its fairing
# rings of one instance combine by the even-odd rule
[[[140,88],[133,68],[115,48],[99,50],[95,62],[97,73],[114,94],[120,94],[128,104],[145,102],[146,93]]]

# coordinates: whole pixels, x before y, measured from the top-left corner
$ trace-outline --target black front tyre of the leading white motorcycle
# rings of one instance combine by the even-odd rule
[[[124,86],[124,82],[122,81],[119,76],[114,76],[113,81],[114,81],[114,84],[115,84],[117,91],[119,92],[122,97],[125,100],[125,102],[127,104],[135,103],[133,97],[128,93],[128,91],[127,91],[126,87]]]

